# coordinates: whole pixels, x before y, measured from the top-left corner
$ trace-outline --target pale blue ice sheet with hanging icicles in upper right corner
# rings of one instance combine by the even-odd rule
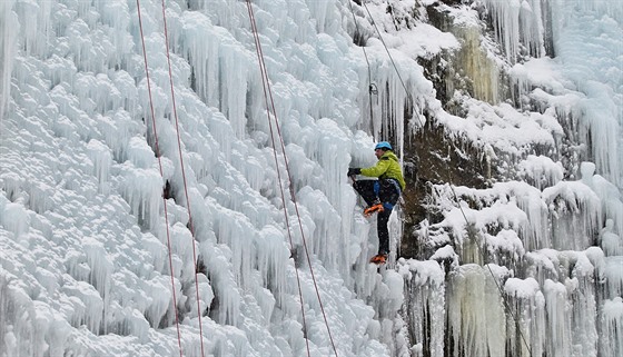
[[[561,122],[576,125],[578,140],[589,142],[582,155],[597,165],[611,182],[621,186],[622,123],[619,50],[623,6],[617,1],[484,1],[495,36],[513,67],[520,96],[528,95],[556,108]],[[504,23],[504,26],[501,26]],[[552,42],[546,52],[544,43]],[[587,46],[587,43],[591,43]],[[550,61],[553,58],[553,61]],[[515,65],[517,63],[517,65]],[[515,65],[515,66],[513,66]],[[541,76],[554,67],[564,79]],[[534,85],[553,97],[536,95]],[[532,92],[532,93],[531,93]],[[568,96],[580,93],[577,100]],[[567,95],[564,96],[563,95]],[[566,118],[565,118],[566,117]],[[574,123],[573,121],[576,121]]]

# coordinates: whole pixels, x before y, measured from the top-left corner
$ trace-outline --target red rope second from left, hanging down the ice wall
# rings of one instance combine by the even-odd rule
[[[169,67],[169,83],[171,87],[171,102],[172,102],[172,109],[174,109],[174,117],[175,117],[175,123],[176,123],[176,131],[177,131],[177,146],[178,146],[178,150],[179,150],[179,162],[181,166],[181,178],[184,180],[184,195],[186,196],[186,206],[188,209],[188,222],[190,226],[190,234],[192,235],[192,237],[195,238],[195,225],[192,222],[192,215],[190,212],[190,199],[188,198],[188,184],[186,180],[186,170],[184,168],[184,156],[181,155],[181,138],[179,135],[179,119],[177,116],[177,106],[176,106],[176,100],[175,100],[175,90],[174,90],[174,76],[172,76],[172,71],[171,71],[171,58],[169,56],[169,36],[168,36],[168,31],[167,31],[167,14],[166,14],[166,6],[165,6],[165,0],[162,0],[162,21],[165,24],[165,46],[167,49],[167,65]],[[200,335],[200,341],[201,341],[201,356],[205,356],[205,351],[204,351],[204,327],[201,324],[201,304],[199,300],[199,279],[197,278],[197,248],[195,247],[195,240],[192,241],[192,262],[195,264],[195,292],[196,292],[196,299],[197,299],[197,317],[198,317],[198,321],[199,321],[199,335]]]

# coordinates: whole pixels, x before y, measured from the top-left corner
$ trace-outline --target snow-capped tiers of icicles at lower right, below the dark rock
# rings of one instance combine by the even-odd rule
[[[604,307],[611,305],[621,289],[621,239],[615,219],[609,218],[616,217],[621,200],[617,191],[610,189],[612,184],[594,175],[594,168],[593,163],[584,162],[581,180],[560,181],[543,191],[520,182],[501,182],[484,190],[436,187],[442,206],[454,206],[455,194],[469,202],[462,204],[462,209],[448,206],[445,219],[428,227],[448,232],[445,239],[437,235],[431,242],[439,247],[451,242],[463,264],[451,270],[454,279],[446,291],[447,301],[454,301],[448,304],[448,317],[455,317],[449,319],[454,323],[448,328],[461,331],[453,333],[456,350],[478,355],[484,348],[469,338],[461,339],[471,326],[476,326],[474,334],[487,334],[483,328],[487,324],[469,323],[469,315],[461,313],[461,304],[477,304],[464,300],[466,292],[461,287],[467,284],[466,279],[469,287],[484,286],[491,279],[506,291],[504,299],[512,308],[503,319],[510,325],[506,333],[492,337],[492,346],[504,346],[510,338],[507,347],[521,356],[528,356],[528,349],[532,354],[567,351],[572,356],[595,356],[597,351],[610,350],[603,338],[620,338],[616,334],[602,337],[601,331],[610,329],[612,334],[613,325],[605,325],[604,319],[616,324],[616,317],[605,316],[613,310]],[[603,221],[606,227],[601,229]],[[548,225],[550,229],[542,229]],[[604,251],[592,247],[595,242]],[[433,257],[441,257],[446,247]],[[510,275],[497,274],[495,269],[493,274],[475,270],[477,266],[467,264],[491,260],[511,269]],[[504,316],[504,309],[501,314]],[[547,338],[541,336],[542,331]],[[568,339],[577,343],[568,345]]]

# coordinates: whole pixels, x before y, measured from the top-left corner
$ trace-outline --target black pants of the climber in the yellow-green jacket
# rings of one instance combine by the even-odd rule
[[[379,200],[384,210],[376,218],[376,232],[378,235],[378,254],[389,252],[389,231],[387,221],[398,198],[400,198],[400,186],[394,179],[358,180],[353,182],[355,190],[362,196],[368,206]]]

